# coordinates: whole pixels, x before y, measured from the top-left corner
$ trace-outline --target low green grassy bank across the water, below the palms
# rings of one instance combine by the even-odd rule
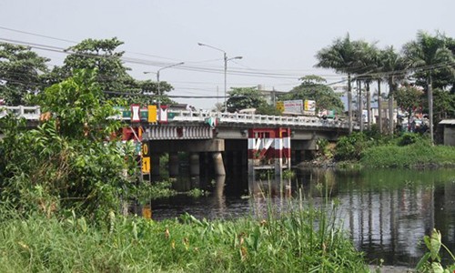
[[[349,137],[352,137],[349,138]],[[393,141],[347,136],[337,145],[325,145],[316,157],[297,167],[337,168],[411,168],[435,169],[455,167],[455,147],[433,146],[426,139],[409,140],[401,136]]]

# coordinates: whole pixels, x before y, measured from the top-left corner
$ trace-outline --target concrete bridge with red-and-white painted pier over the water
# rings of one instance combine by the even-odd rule
[[[0,107],[0,118],[10,112],[25,117],[31,126],[39,124],[38,106]],[[110,118],[125,123],[123,140],[142,143],[142,170],[150,181],[159,177],[160,154],[169,154],[169,175],[177,177],[178,153],[187,152],[192,177],[198,177],[207,165],[207,155],[212,157],[209,165],[217,176],[226,175],[226,167],[247,167],[250,191],[254,191],[258,172],[270,170],[280,183],[291,162],[300,162],[318,149],[319,139],[335,141],[349,133],[348,122],[318,116],[188,111],[166,106],[157,110],[157,106],[132,105],[130,109],[119,108],[119,114]]]

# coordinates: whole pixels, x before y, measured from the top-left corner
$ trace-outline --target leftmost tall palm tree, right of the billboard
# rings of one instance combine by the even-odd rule
[[[336,39],[332,45],[319,50],[316,58],[319,63],[316,67],[335,69],[337,73],[348,75],[348,118],[349,134],[352,133],[352,89],[351,76],[359,68],[356,46],[350,41],[349,34],[344,38]]]

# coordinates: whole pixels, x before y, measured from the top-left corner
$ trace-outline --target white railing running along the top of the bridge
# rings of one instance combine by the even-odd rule
[[[39,120],[41,111],[39,106],[0,106],[0,118],[8,113],[16,116],[25,117],[29,120]],[[187,110],[168,110],[168,122],[189,122],[204,123],[210,117],[218,119],[220,125],[223,124],[254,124],[262,126],[313,126],[313,127],[332,127],[349,128],[349,124],[344,120],[322,119],[318,116],[266,116],[255,114],[223,113],[209,111],[187,111]],[[115,118],[127,120],[130,117],[116,116]],[[354,127],[358,127],[354,123]]]

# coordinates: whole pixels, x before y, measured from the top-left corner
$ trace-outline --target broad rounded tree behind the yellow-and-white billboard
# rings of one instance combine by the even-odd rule
[[[292,88],[285,95],[279,96],[280,100],[315,100],[318,109],[335,110],[337,113],[343,113],[343,102],[333,89],[325,85],[326,79],[320,76],[303,76],[300,78],[300,86]]]

